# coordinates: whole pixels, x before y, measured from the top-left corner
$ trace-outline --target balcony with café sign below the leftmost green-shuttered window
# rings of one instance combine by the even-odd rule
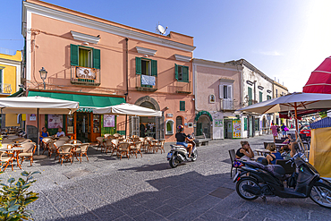
[[[71,83],[81,86],[99,86],[100,69],[72,66]]]

